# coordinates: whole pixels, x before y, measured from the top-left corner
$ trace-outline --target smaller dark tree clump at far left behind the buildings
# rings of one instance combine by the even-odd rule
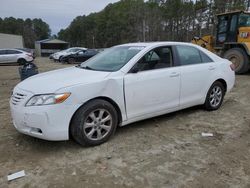
[[[22,35],[24,45],[34,48],[35,41],[50,37],[50,27],[42,19],[0,18],[0,33]]]

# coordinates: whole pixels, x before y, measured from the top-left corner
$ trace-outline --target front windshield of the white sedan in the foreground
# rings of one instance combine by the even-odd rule
[[[90,70],[115,72],[127,64],[143,48],[143,46],[117,46],[109,48],[83,62],[80,67]]]

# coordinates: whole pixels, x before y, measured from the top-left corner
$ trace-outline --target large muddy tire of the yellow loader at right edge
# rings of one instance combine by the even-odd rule
[[[235,73],[243,74],[249,69],[249,57],[245,50],[241,48],[232,48],[225,52],[224,58],[228,59],[235,65]]]

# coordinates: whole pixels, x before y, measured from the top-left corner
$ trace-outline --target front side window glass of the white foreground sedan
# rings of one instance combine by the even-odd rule
[[[149,51],[144,55],[132,68],[132,72],[136,70],[146,71],[167,68],[172,66],[172,51],[170,47],[159,47]]]

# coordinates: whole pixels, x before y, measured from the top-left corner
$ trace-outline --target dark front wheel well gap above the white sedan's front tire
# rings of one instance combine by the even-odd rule
[[[117,111],[117,115],[118,115],[118,125],[122,122],[122,113],[121,113],[121,110],[120,110],[118,104],[117,104],[115,101],[113,101],[112,99],[108,98],[108,97],[103,97],[103,96],[101,96],[101,97],[96,97],[96,98],[90,99],[90,100],[88,100],[87,102],[85,102],[84,104],[82,104],[82,105],[75,111],[75,113],[73,114],[73,116],[71,117],[71,120],[70,120],[70,123],[69,123],[69,127],[71,126],[71,122],[72,122],[72,120],[73,120],[73,118],[74,118],[76,112],[77,112],[82,106],[84,106],[86,103],[88,103],[88,102],[90,102],[90,101],[92,101],[92,100],[96,100],[96,99],[102,99],[102,100],[105,100],[105,101],[109,102],[110,104],[112,104],[112,105],[114,106],[114,108],[116,109],[116,111]],[[69,128],[69,137],[71,137],[70,128]]]

